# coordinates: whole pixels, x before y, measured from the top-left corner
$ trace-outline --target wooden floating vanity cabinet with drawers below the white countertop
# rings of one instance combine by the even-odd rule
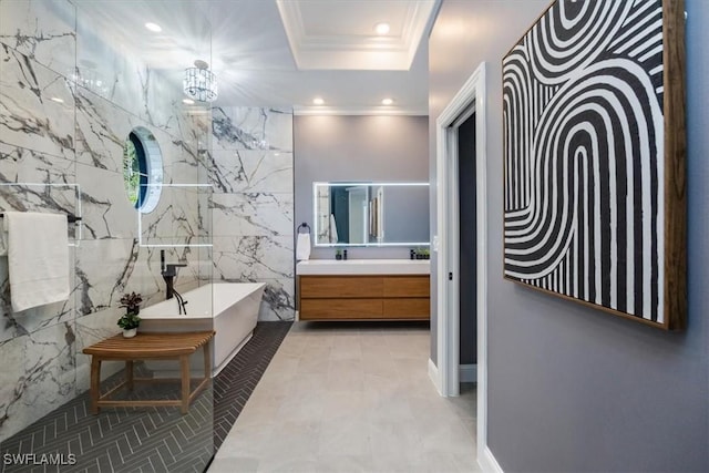
[[[299,276],[300,320],[428,320],[429,275]]]

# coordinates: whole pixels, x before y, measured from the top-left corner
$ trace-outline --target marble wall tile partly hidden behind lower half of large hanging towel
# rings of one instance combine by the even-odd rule
[[[69,281],[70,295],[64,301],[47,304],[21,312],[12,311],[12,295],[10,291],[10,278],[8,259],[0,258],[0,347],[1,343],[27,333],[34,333],[58,323],[66,323],[74,320],[74,302],[76,295],[74,254],[75,247],[69,248]],[[0,350],[0,353],[2,351]],[[1,415],[0,415],[1,418]]]

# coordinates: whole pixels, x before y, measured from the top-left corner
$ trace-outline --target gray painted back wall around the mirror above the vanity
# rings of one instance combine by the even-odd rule
[[[312,183],[429,181],[428,116],[296,116],[295,226],[312,228]],[[353,258],[408,258],[409,247],[350,248]],[[333,258],[314,248],[310,259]]]

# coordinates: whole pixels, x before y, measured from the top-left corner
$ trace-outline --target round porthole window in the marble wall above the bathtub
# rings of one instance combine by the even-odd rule
[[[163,155],[155,135],[144,126],[131,131],[123,146],[123,182],[140,212],[153,212],[163,191]]]

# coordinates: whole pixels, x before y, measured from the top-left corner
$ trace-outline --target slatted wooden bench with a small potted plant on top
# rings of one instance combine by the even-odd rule
[[[209,382],[212,374],[209,342],[214,330],[184,333],[138,333],[133,338],[122,335],[107,338],[83,349],[91,354],[91,413],[97,414],[100,408],[136,408],[136,407],[179,407],[183,414],[187,413],[189,403]],[[204,348],[204,379],[194,391],[189,392],[189,356],[199,347]],[[101,395],[101,362],[104,360],[125,361],[125,379],[115,388]],[[178,360],[181,378],[165,380],[153,378],[134,378],[133,362],[136,360]],[[134,382],[181,381],[182,395],[179,400],[111,400],[109,397],[124,385],[133,390]]]

